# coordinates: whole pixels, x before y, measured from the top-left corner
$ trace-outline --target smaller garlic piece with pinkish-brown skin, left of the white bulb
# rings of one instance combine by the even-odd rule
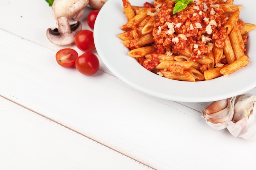
[[[202,111],[202,117],[214,129],[226,128],[234,115],[235,99],[236,97],[231,97],[211,103],[210,106]]]

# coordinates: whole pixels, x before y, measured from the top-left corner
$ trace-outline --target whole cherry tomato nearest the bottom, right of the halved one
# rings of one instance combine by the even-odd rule
[[[85,75],[93,75],[99,70],[99,59],[90,52],[83,53],[76,59],[76,69]]]

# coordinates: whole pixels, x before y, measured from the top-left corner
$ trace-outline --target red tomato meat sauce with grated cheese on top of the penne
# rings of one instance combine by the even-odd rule
[[[196,61],[209,53],[213,46],[223,49],[228,36],[224,27],[228,16],[219,4],[214,4],[216,0],[194,0],[184,10],[174,15],[175,1],[155,0],[155,2],[162,4],[153,24],[153,39],[157,47],[155,53],[184,55],[180,51],[189,51],[190,60]],[[151,7],[148,3],[144,5]],[[243,24],[241,22],[240,27]],[[243,36],[243,40],[247,44],[247,36]],[[136,46],[136,44],[132,45]],[[151,54],[150,58],[144,57],[137,60],[150,71],[159,64],[154,54]],[[227,64],[225,55],[219,63]],[[204,73],[206,70],[207,67],[200,64],[200,72]]]

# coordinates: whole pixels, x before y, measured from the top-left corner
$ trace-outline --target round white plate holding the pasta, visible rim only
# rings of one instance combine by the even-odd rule
[[[152,0],[151,0],[152,1]],[[142,6],[145,0],[130,0],[132,5]],[[256,24],[255,1],[235,0],[243,4],[240,18]],[[122,13],[122,0],[108,0],[102,7],[94,26],[94,42],[101,60],[119,79],[146,94],[179,102],[211,102],[246,93],[256,87],[256,30],[249,33],[250,63],[245,68],[216,79],[202,82],[182,82],[160,77],[143,68],[128,56],[128,49],[117,37],[127,19]]]

